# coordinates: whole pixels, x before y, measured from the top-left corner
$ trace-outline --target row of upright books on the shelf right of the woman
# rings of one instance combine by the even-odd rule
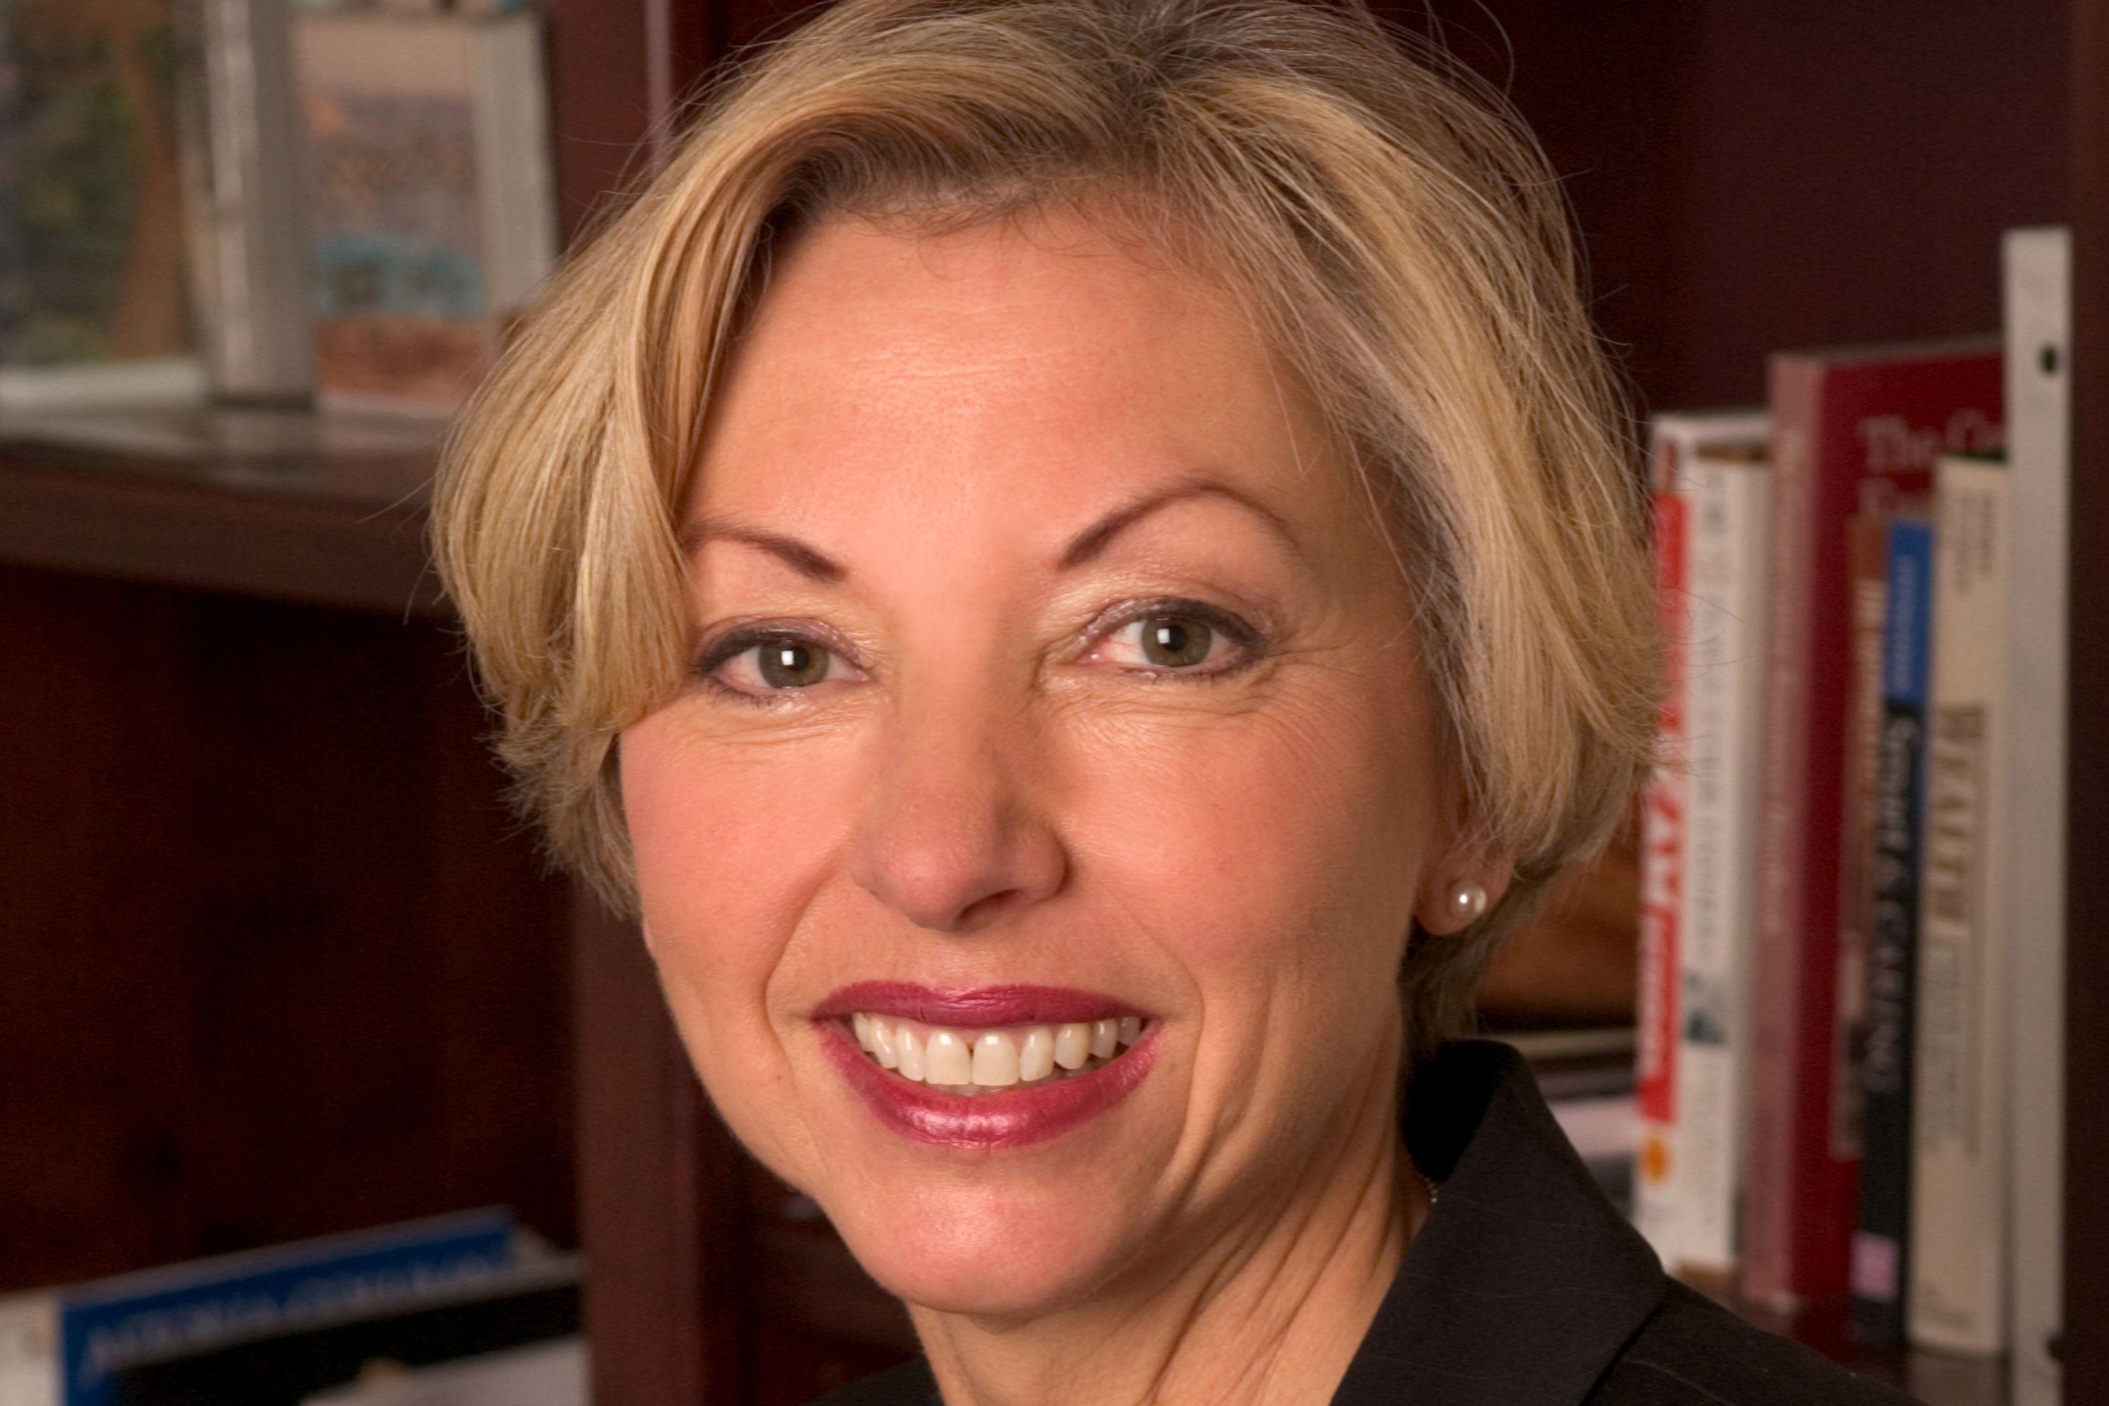
[[[1672,641],[1634,1218],[1691,1282],[2056,1402],[2069,240],[2006,335],[1651,426]]]

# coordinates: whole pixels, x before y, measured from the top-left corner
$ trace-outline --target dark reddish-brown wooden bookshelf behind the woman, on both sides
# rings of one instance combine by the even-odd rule
[[[711,63],[804,6],[542,8],[574,234]],[[2109,712],[2109,0],[1388,8],[1512,74],[1651,407],[1755,403],[1774,348],[1987,331],[1997,232],[2073,223],[2071,717]],[[424,573],[428,472],[0,447],[0,647],[36,660],[0,689],[0,725],[34,738],[0,805],[0,1065],[36,1071],[0,1098],[0,1290],[502,1199],[591,1254],[601,1402],[804,1402],[911,1349],[905,1317],[728,1140],[635,932],[500,807]],[[2071,759],[2088,1069],[2109,1060],[2109,742],[2075,729]],[[2073,1402],[2109,1400],[2088,1092]]]

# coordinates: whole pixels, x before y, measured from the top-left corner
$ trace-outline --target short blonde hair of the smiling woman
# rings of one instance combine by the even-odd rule
[[[1052,202],[1200,236],[1411,578],[1459,841],[1514,862],[1466,934],[1409,944],[1421,1054],[1626,816],[1662,645],[1559,181],[1506,99],[1362,4],[846,0],[728,74],[443,455],[434,552],[498,750],[550,850],[635,911],[614,742],[683,670],[675,512],[770,242]]]

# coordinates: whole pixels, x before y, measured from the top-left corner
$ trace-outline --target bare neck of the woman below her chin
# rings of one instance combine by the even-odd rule
[[[1149,1286],[1023,1324],[911,1307],[947,1406],[1329,1402],[1428,1214],[1398,1143],[1396,1079],[1365,1088],[1329,1140],[1337,1159]]]

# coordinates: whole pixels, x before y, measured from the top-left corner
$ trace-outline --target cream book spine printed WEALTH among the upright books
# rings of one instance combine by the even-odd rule
[[[1909,1330],[1974,1355],[2008,1341],[2006,485],[1980,460],[1934,474]]]

